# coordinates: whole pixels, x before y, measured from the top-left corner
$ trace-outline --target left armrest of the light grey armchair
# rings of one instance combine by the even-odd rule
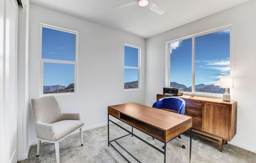
[[[50,139],[53,134],[53,125],[48,123],[36,122],[35,124],[37,137],[41,139]]]

